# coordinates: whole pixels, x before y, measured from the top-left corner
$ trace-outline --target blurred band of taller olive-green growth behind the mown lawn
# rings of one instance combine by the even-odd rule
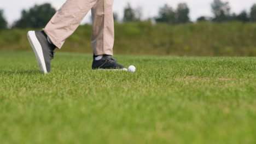
[[[31,50],[27,31],[32,29],[0,31],[0,50]],[[91,53],[91,29],[91,25],[79,26],[61,51]],[[256,22],[115,23],[114,52],[121,55],[255,57],[255,39]]]

